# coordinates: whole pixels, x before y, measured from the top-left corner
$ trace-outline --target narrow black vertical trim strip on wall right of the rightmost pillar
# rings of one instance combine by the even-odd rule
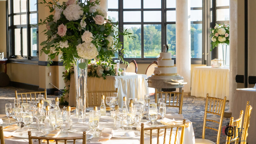
[[[244,0],[244,88],[248,87],[248,0]]]

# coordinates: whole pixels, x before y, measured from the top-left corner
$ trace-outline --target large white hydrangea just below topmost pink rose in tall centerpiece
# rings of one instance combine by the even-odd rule
[[[67,20],[78,20],[83,15],[84,11],[78,4],[70,4],[67,8],[63,11],[63,14],[67,18]]]

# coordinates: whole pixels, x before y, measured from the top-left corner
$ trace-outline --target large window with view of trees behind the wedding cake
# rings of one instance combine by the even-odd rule
[[[152,62],[168,44],[176,58],[176,0],[108,0],[108,18],[137,37],[120,36],[124,59]],[[202,0],[191,0],[191,58],[202,59]],[[149,60],[149,61],[146,61]],[[200,62],[201,63],[201,62]]]

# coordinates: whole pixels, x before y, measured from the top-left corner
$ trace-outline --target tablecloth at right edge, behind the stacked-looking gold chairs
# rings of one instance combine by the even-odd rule
[[[248,137],[246,142],[255,143],[255,129],[256,129],[256,91],[254,88],[244,88],[244,89],[236,89],[236,93],[234,96],[233,102],[233,110],[232,116],[234,119],[239,118],[240,110],[243,110],[245,113],[246,102],[250,101],[250,105],[252,106],[252,114],[250,119],[250,126],[248,128]],[[244,116],[243,116],[244,123]],[[242,124],[243,126],[243,124]]]

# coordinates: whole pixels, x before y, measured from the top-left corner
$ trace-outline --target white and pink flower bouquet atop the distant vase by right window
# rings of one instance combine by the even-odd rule
[[[211,51],[219,44],[229,45],[229,25],[224,23],[222,26],[216,24],[215,27],[211,29],[210,36],[212,39]]]

